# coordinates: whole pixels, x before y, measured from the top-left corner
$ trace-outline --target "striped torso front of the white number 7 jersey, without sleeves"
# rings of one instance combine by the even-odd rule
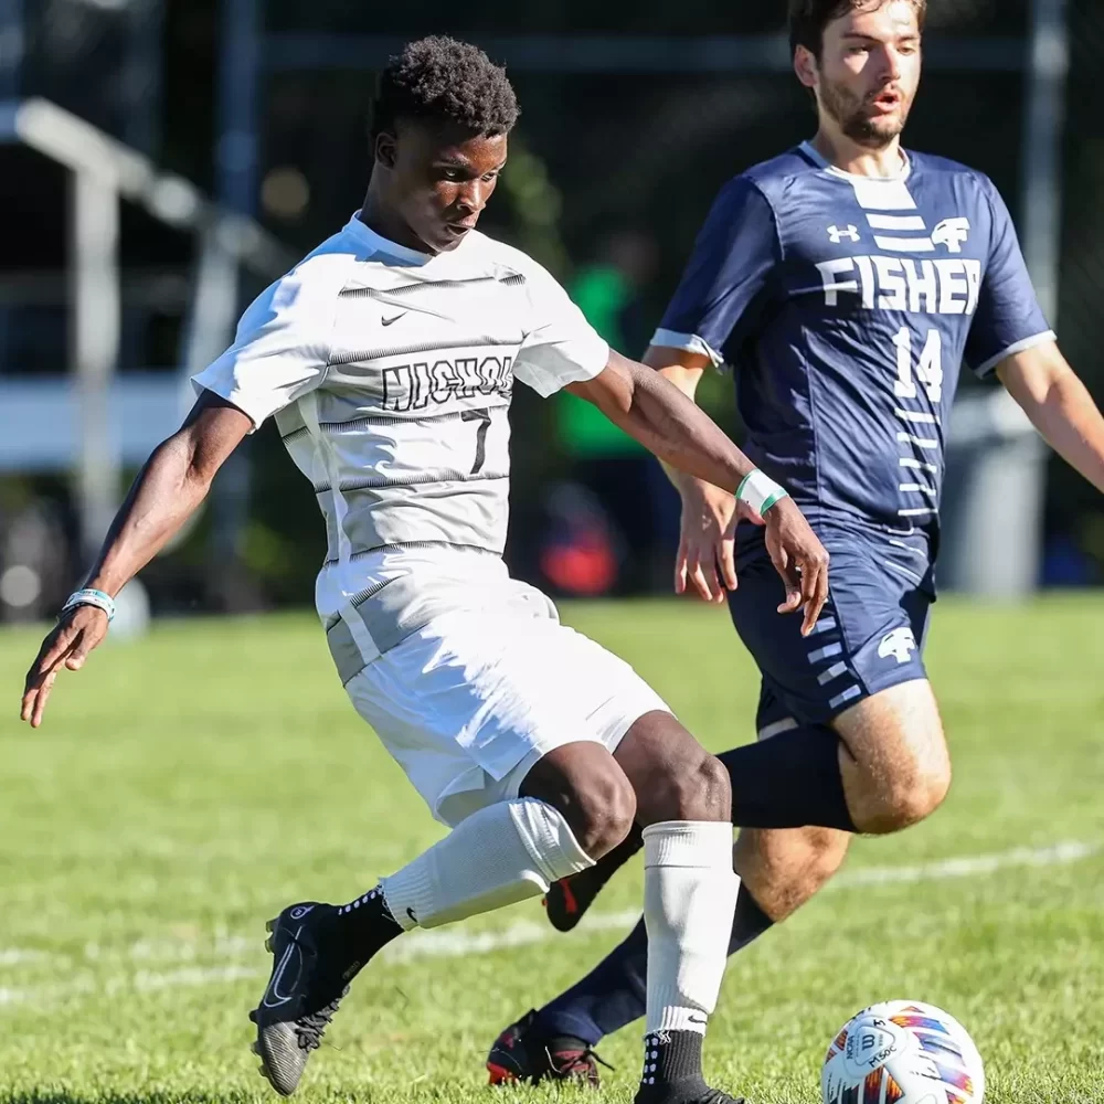
[[[322,385],[277,415],[327,520],[327,561],[392,545],[501,551],[526,277],[361,266]]]

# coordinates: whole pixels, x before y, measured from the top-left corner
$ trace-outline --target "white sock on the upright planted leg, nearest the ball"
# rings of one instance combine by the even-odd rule
[[[649,1034],[705,1033],[739,889],[728,821],[670,820],[644,829]]]

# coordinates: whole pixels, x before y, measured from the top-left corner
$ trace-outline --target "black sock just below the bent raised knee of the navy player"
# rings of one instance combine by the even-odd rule
[[[719,755],[732,778],[732,822],[857,831],[843,794],[839,746],[831,729],[806,725]]]

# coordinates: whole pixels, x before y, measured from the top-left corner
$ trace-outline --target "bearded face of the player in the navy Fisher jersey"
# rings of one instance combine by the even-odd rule
[[[825,29],[820,109],[852,141],[884,146],[909,120],[920,68],[920,29],[907,0],[857,9]]]

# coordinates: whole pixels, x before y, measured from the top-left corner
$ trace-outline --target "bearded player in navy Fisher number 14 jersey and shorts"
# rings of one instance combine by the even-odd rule
[[[1104,420],[1059,351],[996,188],[901,147],[924,15],[925,0],[792,0],[794,67],[816,99],[817,134],[724,185],[645,358],[691,396],[707,369],[732,367],[749,456],[831,556],[828,604],[806,638],[774,615],[778,580],[760,531],[737,531],[743,508],[672,474],[676,587],[726,594],[762,672],[760,739],[721,756],[740,822],[755,826],[734,850],[730,953],[807,901],[852,834],[905,828],[947,794],[922,650],[960,363],[995,374],[1104,490]],[[781,830],[795,824],[817,827]],[[630,837],[556,883],[552,923],[574,926],[638,846]],[[508,1028],[491,1080],[596,1083],[592,1048],[644,1013],[647,945],[641,921],[575,987]]]

